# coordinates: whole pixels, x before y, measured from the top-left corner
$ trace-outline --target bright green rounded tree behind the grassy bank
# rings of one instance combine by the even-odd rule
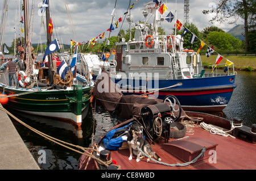
[[[206,39],[210,44],[221,50],[240,49],[242,46],[241,40],[225,32],[212,31],[207,35]]]

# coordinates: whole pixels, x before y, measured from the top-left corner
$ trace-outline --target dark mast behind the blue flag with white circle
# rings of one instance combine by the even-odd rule
[[[51,34],[48,33],[49,28],[49,0],[48,1],[48,8],[46,9],[46,27],[47,27],[47,46],[52,42]],[[52,71],[52,54],[48,55],[48,75],[49,75],[49,84],[53,84],[53,71]]]

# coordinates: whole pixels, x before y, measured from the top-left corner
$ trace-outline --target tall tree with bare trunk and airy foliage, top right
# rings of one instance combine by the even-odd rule
[[[235,17],[235,20],[229,22],[230,24],[236,23],[237,19],[244,19],[245,26],[245,45],[246,50],[249,46],[247,33],[249,31],[249,26],[255,28],[256,24],[256,1],[255,0],[220,0],[216,9],[212,8],[210,10],[204,10],[204,14],[215,13],[210,22],[225,22],[230,20],[230,17]]]

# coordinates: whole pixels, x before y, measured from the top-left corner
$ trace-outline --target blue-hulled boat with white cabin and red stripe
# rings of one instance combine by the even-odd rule
[[[120,38],[115,43],[113,56],[92,70],[94,80],[105,65],[125,95],[146,94],[158,99],[175,95],[186,111],[223,110],[236,88],[234,64],[215,64],[207,73],[200,54],[183,47],[181,35],[160,35],[155,31],[166,18],[160,15],[159,6],[147,3],[143,15],[144,23],[131,23],[131,15],[127,16],[134,25],[134,37],[129,41]],[[154,19],[152,23],[150,18]],[[220,65],[227,66],[228,71],[218,69]]]

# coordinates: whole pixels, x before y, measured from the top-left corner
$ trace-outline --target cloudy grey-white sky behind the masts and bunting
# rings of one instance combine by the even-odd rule
[[[6,23],[5,29],[5,42],[7,46],[11,45],[11,42],[14,40],[15,33],[15,10],[18,2],[21,0],[9,0],[9,11],[8,11],[8,20]],[[136,2],[137,0],[131,0],[131,4]],[[22,1],[21,1],[22,2]],[[42,0],[29,0],[30,5],[32,2],[35,2],[35,16],[34,16],[34,31],[32,36],[32,43],[38,43],[39,37],[41,37],[41,41],[46,41],[46,35],[44,33],[44,28],[41,26],[41,18],[42,16],[38,15],[38,4],[42,2]],[[76,33],[77,41],[86,41],[90,40],[102,32],[105,32],[105,37],[109,35],[108,28],[110,27],[110,23],[112,22],[112,16],[110,15],[114,9],[115,0],[49,0],[49,6],[51,10],[51,16],[53,16],[54,20],[54,28],[58,33],[58,39],[64,44],[69,44],[70,40],[75,40],[73,35],[71,23],[69,22],[67,10],[65,7],[65,2],[68,3],[69,12],[72,17],[73,27]],[[114,22],[120,18],[124,12],[126,12],[127,7],[129,6],[130,0],[117,0],[117,6],[115,8],[115,17]],[[137,20],[144,20],[144,16],[142,15],[141,9],[144,7],[144,3],[150,2],[150,0],[139,0],[138,3],[135,3],[133,9],[131,10],[131,15],[134,16],[134,22]],[[175,15],[175,0],[164,0],[166,6],[168,7],[167,11],[164,12],[163,16],[166,17],[168,12],[171,11]],[[194,23],[199,31],[202,31],[205,27],[208,26],[218,26],[222,28],[222,30],[229,31],[231,28],[236,26],[236,24],[228,24],[227,22],[222,24],[211,24],[209,22],[210,15],[204,15],[203,10],[209,10],[212,5],[216,5],[217,0],[190,0],[189,1],[189,23]],[[0,4],[0,11],[2,14],[3,5]],[[177,0],[177,19],[180,20],[181,23],[184,22],[184,1]],[[31,7],[30,7],[31,12]],[[45,20],[45,16],[43,17]],[[19,11],[17,10],[16,15],[16,30],[19,34]],[[114,24],[113,22],[113,24]],[[171,33],[172,28],[174,28],[173,20],[171,23],[168,23],[166,20],[164,21],[163,28],[166,33]],[[242,24],[242,20],[238,20],[238,24]],[[120,27],[121,24],[119,24]],[[115,29],[111,36],[116,36],[119,27]],[[129,28],[129,24],[125,20],[123,23],[123,30]],[[39,36],[40,35],[40,36]],[[22,33],[24,36],[24,33]],[[53,36],[55,36],[53,34]]]

